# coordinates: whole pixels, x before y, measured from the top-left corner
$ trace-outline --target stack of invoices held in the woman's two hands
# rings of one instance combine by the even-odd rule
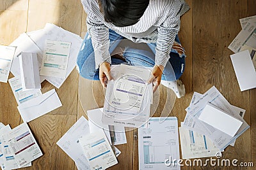
[[[147,123],[152,98],[152,93],[150,91],[152,90],[152,84],[149,84],[147,86],[144,84],[145,93],[142,101],[134,94],[130,96],[131,92],[134,91],[127,93],[124,92],[122,93],[122,95],[120,95],[118,92],[118,96],[116,96],[117,88],[115,88],[115,85],[116,80],[118,81],[118,78],[124,74],[133,74],[138,76],[139,78],[144,78],[145,80],[143,81],[145,82],[147,81],[147,78],[150,74],[150,69],[143,69],[136,66],[120,65],[112,67],[111,74],[113,75],[115,81],[108,82],[103,108],[104,115],[102,115],[103,124],[125,127],[140,127],[140,125]],[[133,104],[129,102],[129,97],[132,98],[131,103]],[[136,101],[137,99],[138,101]],[[136,104],[134,104],[134,101],[138,103],[138,108],[135,107]]]

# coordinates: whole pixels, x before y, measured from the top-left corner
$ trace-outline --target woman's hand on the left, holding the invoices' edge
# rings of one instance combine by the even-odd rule
[[[108,62],[102,62],[100,64],[99,78],[103,87],[107,87],[108,80],[113,80],[110,74],[110,64]]]

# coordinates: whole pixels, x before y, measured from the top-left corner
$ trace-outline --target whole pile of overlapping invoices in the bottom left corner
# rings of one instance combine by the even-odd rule
[[[1,169],[28,167],[43,155],[26,123],[14,129],[0,124],[0,153]]]

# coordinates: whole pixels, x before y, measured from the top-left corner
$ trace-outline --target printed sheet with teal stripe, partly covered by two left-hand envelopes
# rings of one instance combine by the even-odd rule
[[[10,87],[12,88],[12,92],[14,94],[14,97],[18,105],[26,101],[29,101],[30,99],[33,99],[37,96],[42,95],[42,92],[40,89],[23,91],[20,78],[18,77],[10,78],[8,81],[9,81]]]

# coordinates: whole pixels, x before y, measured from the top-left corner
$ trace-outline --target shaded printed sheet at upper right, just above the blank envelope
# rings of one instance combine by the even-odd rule
[[[232,43],[230,43],[228,48],[232,50],[232,52],[237,53],[240,51],[241,46],[243,46],[244,44],[248,46],[253,45],[253,41],[255,42],[255,39],[256,39],[255,29],[256,29],[256,24],[253,24],[252,22],[248,22],[244,26],[244,29],[242,29],[239,32],[239,34],[237,34],[236,38],[232,41]]]

